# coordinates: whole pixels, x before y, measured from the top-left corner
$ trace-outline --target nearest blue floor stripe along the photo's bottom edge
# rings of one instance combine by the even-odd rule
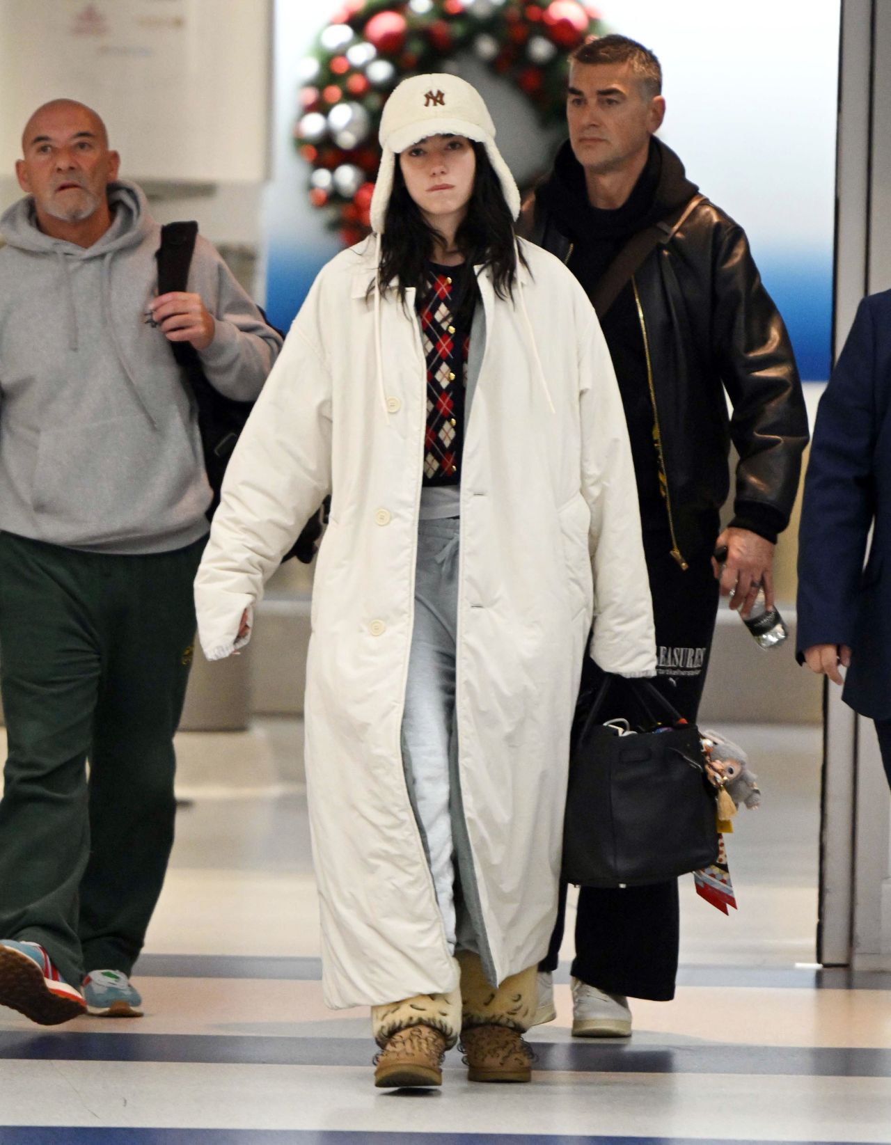
[[[417,1096],[417,1095],[415,1095]],[[69,1129],[0,1127],[0,1145],[704,1145],[701,1137],[365,1132],[342,1129]],[[724,1139],[720,1145],[869,1145],[867,1142]]]

